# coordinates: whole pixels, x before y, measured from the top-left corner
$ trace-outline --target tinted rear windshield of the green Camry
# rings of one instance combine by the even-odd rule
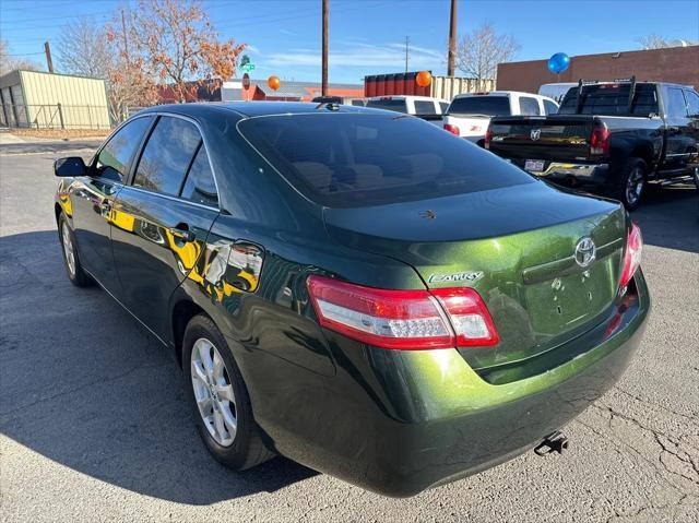
[[[239,130],[289,183],[331,207],[534,182],[521,169],[415,117],[274,116],[244,120]]]

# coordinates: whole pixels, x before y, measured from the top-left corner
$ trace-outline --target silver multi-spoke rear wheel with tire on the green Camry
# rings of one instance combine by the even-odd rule
[[[234,471],[274,453],[252,417],[248,391],[221,331],[204,314],[191,319],[182,341],[185,389],[199,435],[216,461]]]

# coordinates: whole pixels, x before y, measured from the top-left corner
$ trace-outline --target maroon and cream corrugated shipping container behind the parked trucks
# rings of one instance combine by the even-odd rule
[[[462,93],[495,91],[495,80],[477,80],[457,76],[434,76],[433,83],[420,87],[415,83],[417,72],[372,74],[364,78],[364,95],[417,95],[451,99]]]

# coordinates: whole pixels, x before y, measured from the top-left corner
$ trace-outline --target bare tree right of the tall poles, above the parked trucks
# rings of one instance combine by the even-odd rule
[[[520,50],[513,36],[499,34],[485,23],[464,35],[457,47],[457,67],[478,81],[495,79],[498,63],[508,62]]]

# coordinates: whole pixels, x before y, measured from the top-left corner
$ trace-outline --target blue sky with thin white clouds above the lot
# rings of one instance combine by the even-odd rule
[[[123,3],[0,0],[0,37],[10,52],[45,64],[45,39],[56,41],[75,16],[104,23]],[[250,46],[253,78],[320,79],[321,0],[205,0],[203,5],[223,37]],[[518,60],[558,51],[614,52],[638,49],[637,38],[651,33],[699,40],[699,0],[459,0],[460,35],[484,22],[514,36]],[[448,33],[449,0],[330,0],[330,81],[360,83],[365,74],[403,71],[405,36],[410,69],[443,74]]]

